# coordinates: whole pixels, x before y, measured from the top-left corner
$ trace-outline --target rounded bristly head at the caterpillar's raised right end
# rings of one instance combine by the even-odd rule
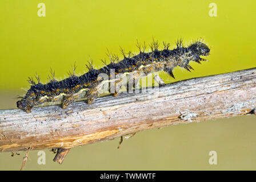
[[[210,48],[200,41],[194,42],[188,48],[195,57],[210,55]]]

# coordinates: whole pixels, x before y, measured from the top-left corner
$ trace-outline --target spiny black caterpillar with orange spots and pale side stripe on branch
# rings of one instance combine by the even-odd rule
[[[174,49],[170,50],[170,43],[163,42],[163,49],[159,50],[159,43],[153,39],[150,44],[151,51],[146,52],[146,45],[138,43],[139,53],[134,55],[128,54],[121,48],[123,59],[119,61],[117,55],[107,53],[110,58],[110,64],[103,61],[104,67],[95,69],[92,61],[87,64],[89,71],[81,76],[70,73],[68,78],[58,81],[54,78],[54,72],[51,70],[50,82],[42,84],[40,77],[36,76],[38,83],[29,78],[30,89],[24,97],[17,102],[17,107],[31,112],[34,106],[41,105],[45,102],[61,102],[63,109],[71,103],[81,98],[86,98],[88,104],[92,104],[98,97],[101,90],[108,90],[113,96],[118,96],[120,88],[135,88],[138,80],[149,73],[164,71],[174,78],[173,69],[182,67],[190,71],[193,69],[190,61],[200,63],[207,61],[201,56],[210,55],[210,48],[203,40],[195,40],[184,47],[182,39],[176,42]],[[128,77],[125,79],[125,77]],[[113,86],[111,86],[113,85]],[[114,88],[114,89],[113,89]]]

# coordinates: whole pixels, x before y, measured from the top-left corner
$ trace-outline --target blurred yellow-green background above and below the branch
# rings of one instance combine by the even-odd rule
[[[46,16],[37,15],[45,3]],[[209,4],[217,4],[217,17]],[[57,78],[67,77],[74,62],[77,73],[87,72],[89,56],[97,68],[107,48],[138,52],[136,40],[149,44],[154,37],[185,44],[204,38],[211,47],[209,62],[191,63],[187,72],[175,68],[176,79],[161,73],[166,82],[215,75],[256,67],[255,1],[0,1],[0,109],[13,109],[17,95],[29,89],[27,77],[35,72],[47,82],[50,68]],[[31,151],[25,169],[256,169],[255,116],[190,123],[148,130],[118,139],[75,147],[62,165],[38,165]],[[210,165],[209,151],[217,151],[218,164]],[[0,169],[19,169],[25,154],[0,154]]]

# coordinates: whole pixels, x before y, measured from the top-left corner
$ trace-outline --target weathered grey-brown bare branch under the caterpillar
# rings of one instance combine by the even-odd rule
[[[33,113],[0,110],[0,151],[72,148],[146,129],[253,113],[256,68],[192,78],[159,91],[77,102],[66,110],[36,107]]]

